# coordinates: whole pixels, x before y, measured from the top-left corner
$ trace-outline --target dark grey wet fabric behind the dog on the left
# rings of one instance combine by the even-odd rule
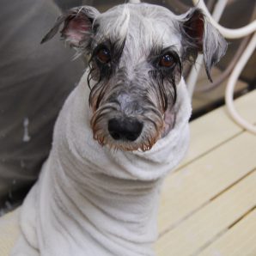
[[[51,149],[58,111],[84,69],[56,39],[47,0],[0,0],[0,208],[22,198]]]

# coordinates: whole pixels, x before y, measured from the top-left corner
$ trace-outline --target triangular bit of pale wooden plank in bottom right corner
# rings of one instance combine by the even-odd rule
[[[255,256],[256,210],[236,223],[198,256]]]

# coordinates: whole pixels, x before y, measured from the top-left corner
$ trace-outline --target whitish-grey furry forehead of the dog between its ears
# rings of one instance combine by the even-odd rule
[[[152,46],[175,46],[180,49],[179,19],[170,10],[153,4],[123,4],[99,15],[94,22],[101,40],[121,41],[140,48],[140,52]],[[105,38],[102,38],[104,34]],[[96,43],[96,44],[97,44]]]

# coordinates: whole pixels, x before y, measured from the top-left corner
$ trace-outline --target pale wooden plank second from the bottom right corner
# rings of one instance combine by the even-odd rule
[[[157,255],[198,255],[202,247],[255,207],[255,184],[256,171],[163,235],[156,243]]]

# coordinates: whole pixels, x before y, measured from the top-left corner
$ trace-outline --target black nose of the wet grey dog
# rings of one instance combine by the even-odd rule
[[[108,121],[109,134],[115,140],[124,139],[128,141],[135,141],[140,136],[143,130],[143,124],[137,119],[110,119]]]

